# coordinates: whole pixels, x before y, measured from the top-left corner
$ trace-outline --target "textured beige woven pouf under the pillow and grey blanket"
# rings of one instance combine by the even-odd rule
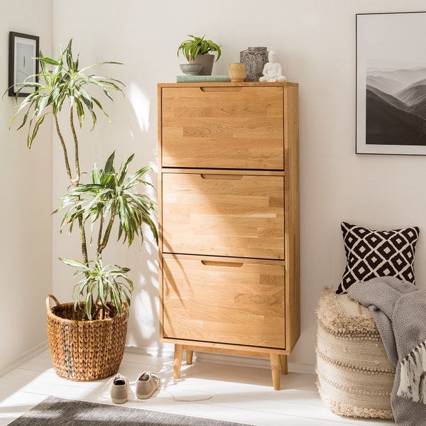
[[[317,306],[317,386],[337,415],[393,419],[395,368],[368,308],[325,288]]]

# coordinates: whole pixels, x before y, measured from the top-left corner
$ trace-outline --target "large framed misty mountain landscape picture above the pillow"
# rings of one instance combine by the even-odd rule
[[[426,12],[356,15],[356,153],[426,155]]]

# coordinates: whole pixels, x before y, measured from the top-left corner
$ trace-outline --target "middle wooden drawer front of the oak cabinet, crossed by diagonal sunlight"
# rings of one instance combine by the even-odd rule
[[[284,176],[163,173],[163,252],[284,259]]]

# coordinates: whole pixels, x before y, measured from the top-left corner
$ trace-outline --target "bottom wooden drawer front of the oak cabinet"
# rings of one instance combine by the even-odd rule
[[[163,258],[163,337],[285,349],[284,261]]]

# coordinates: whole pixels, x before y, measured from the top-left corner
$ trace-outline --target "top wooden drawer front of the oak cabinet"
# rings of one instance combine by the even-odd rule
[[[163,167],[284,169],[283,87],[163,87]]]

